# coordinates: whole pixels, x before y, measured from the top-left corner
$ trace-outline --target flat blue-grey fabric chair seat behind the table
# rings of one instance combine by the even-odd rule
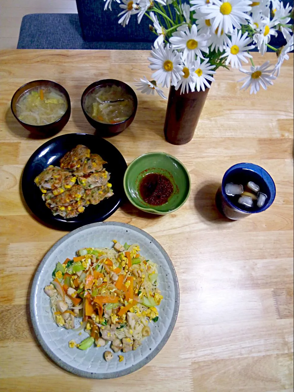
[[[77,14],[29,14],[22,18],[18,49],[151,49],[150,42],[85,42]]]

